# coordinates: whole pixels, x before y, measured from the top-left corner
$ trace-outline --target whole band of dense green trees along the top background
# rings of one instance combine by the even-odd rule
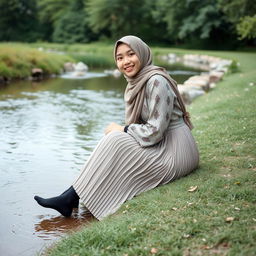
[[[251,0],[0,0],[0,41],[84,43],[134,34],[208,48],[256,44]]]

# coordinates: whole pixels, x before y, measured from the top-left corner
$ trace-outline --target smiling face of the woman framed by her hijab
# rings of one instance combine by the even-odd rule
[[[127,77],[134,77],[141,68],[141,63],[136,53],[124,43],[117,46],[116,64],[120,72]]]

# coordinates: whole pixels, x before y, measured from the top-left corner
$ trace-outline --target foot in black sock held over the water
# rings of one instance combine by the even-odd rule
[[[77,195],[76,191],[72,186],[59,196],[47,199],[35,196],[34,199],[41,206],[46,208],[52,208],[65,217],[70,217],[73,208],[77,208],[79,203],[79,196]]]

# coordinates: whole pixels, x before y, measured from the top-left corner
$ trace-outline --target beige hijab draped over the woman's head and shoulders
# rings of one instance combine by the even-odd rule
[[[145,95],[145,85],[150,77],[158,74],[165,77],[169,81],[170,86],[172,87],[174,93],[177,96],[180,109],[183,112],[184,121],[188,125],[188,127],[192,129],[193,125],[190,122],[189,113],[186,111],[185,104],[177,89],[177,83],[170,77],[170,75],[165,71],[164,68],[152,65],[152,53],[148,45],[136,36],[122,37],[116,42],[114,47],[115,60],[117,46],[121,43],[125,43],[129,47],[131,47],[141,63],[141,70],[134,77],[124,76],[126,78],[126,81],[128,82],[124,94],[126,125],[140,122],[140,115]]]

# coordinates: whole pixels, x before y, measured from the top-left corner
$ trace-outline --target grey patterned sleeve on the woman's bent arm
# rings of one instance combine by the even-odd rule
[[[174,97],[164,77],[155,75],[147,82],[142,109],[144,123],[131,124],[127,131],[142,147],[153,146],[163,138],[170,123]],[[147,116],[146,120],[143,116]]]

